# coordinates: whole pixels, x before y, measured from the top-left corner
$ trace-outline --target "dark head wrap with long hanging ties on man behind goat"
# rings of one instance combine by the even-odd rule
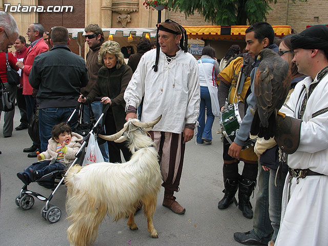
[[[180,48],[186,52],[188,52],[188,36],[187,36],[187,31],[185,28],[177,24],[171,19],[165,20],[165,22],[158,23],[156,25],[157,27],[157,45],[156,45],[156,60],[155,60],[155,65],[153,66],[153,69],[155,72],[158,70],[158,59],[159,59],[159,44],[158,44],[158,31],[165,31],[165,32],[170,32],[176,35],[182,34],[182,37],[180,39]]]

